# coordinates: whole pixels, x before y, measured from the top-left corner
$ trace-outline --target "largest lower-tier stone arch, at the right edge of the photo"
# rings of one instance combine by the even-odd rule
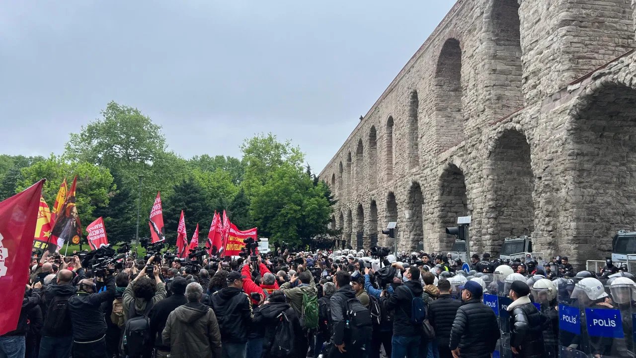
[[[585,93],[567,132],[574,222],[565,237],[578,262],[609,254],[616,231],[636,222],[636,89],[605,80]]]

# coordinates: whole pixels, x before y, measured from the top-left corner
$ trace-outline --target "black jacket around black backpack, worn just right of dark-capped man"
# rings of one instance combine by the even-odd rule
[[[303,339],[304,336],[300,334],[300,321],[298,320],[298,316],[296,316],[296,311],[289,306],[289,303],[268,303],[261,307],[258,315],[254,315],[256,323],[265,329],[262,357],[269,357],[269,352],[274,341],[274,334],[276,334],[276,328],[280,323],[279,315],[282,312],[285,312],[285,315],[287,315],[287,318],[291,321],[291,324],[294,326],[294,332],[298,333],[295,335],[296,341],[294,341],[294,348],[300,347],[300,340]]]

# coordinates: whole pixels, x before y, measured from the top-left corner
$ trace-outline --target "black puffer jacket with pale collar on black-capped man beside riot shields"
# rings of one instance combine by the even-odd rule
[[[506,308],[510,313],[510,346],[517,348],[520,358],[540,358],[545,355],[543,329],[548,319],[522,296]],[[521,347],[521,348],[519,348]]]

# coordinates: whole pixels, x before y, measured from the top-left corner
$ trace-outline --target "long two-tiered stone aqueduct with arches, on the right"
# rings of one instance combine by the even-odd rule
[[[636,3],[636,0],[634,0]],[[459,0],[320,174],[356,247],[424,241],[472,215],[473,252],[531,235],[583,264],[636,225],[631,0]]]

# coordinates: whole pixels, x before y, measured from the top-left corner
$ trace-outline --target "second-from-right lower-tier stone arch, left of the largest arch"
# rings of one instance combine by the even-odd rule
[[[534,175],[531,150],[522,132],[504,129],[490,148],[485,175],[488,185],[486,206],[491,217],[486,224],[492,245],[499,254],[504,238],[530,236],[534,232]]]

